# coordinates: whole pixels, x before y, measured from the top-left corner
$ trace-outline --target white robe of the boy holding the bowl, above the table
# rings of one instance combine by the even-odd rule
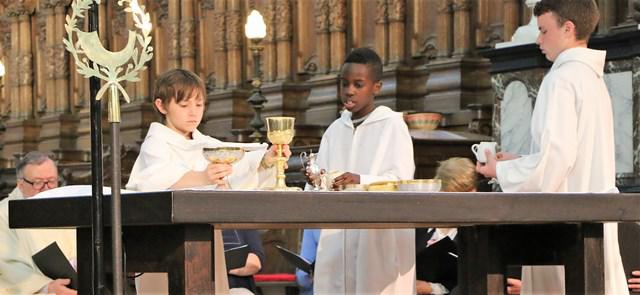
[[[275,184],[276,169],[260,167],[266,144],[222,142],[198,130],[193,131],[193,139],[189,140],[167,126],[154,122],[149,126],[140,147],[126,188],[135,191],[169,189],[187,172],[204,171],[207,168],[209,162],[203,155],[203,148],[221,146],[240,146],[252,150],[233,164],[233,172],[229,175],[232,189],[256,189]]]

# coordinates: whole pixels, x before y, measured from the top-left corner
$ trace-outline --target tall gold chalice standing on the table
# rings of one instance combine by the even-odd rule
[[[276,191],[292,191],[301,190],[298,187],[288,187],[285,184],[284,165],[287,158],[283,154],[283,145],[290,144],[295,134],[293,125],[295,123],[293,117],[269,117],[267,118],[267,138],[277,147],[277,166],[278,175],[276,176],[276,185],[273,190]]]

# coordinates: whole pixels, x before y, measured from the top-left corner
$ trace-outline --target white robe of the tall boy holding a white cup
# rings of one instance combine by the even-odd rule
[[[604,51],[587,48],[567,49],[558,56],[538,92],[530,154],[497,164],[503,191],[617,191],[613,112],[603,80],[605,56]],[[615,223],[604,225],[604,252],[605,293],[628,294]],[[535,288],[535,273],[533,277],[533,284],[523,281],[523,288]]]

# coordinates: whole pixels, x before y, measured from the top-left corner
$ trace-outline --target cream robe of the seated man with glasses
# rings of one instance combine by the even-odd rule
[[[53,242],[57,242],[68,259],[77,257],[75,229],[9,228],[9,200],[21,199],[22,193],[16,188],[9,197],[0,201],[0,294],[43,291],[51,278],[42,274],[31,256]]]

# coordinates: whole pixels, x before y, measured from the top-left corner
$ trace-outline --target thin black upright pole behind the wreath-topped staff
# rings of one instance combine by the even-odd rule
[[[98,5],[89,8],[89,32],[98,31]],[[93,238],[92,289],[94,295],[104,290],[103,220],[102,220],[102,109],[96,94],[100,89],[97,77],[89,78],[91,95],[91,237]]]

